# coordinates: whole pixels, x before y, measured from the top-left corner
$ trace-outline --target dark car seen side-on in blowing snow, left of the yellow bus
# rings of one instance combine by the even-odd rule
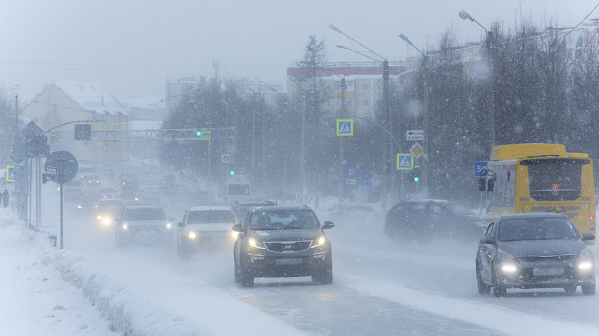
[[[474,242],[485,226],[484,221],[460,204],[422,199],[394,204],[386,214],[384,233],[396,241],[428,243],[431,238],[449,238]]]

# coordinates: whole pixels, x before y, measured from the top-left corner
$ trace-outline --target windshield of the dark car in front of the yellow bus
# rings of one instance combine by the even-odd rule
[[[499,224],[499,241],[538,241],[580,238],[568,221],[560,218],[506,219]]]

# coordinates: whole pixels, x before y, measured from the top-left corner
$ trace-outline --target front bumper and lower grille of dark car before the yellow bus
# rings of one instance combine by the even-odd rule
[[[581,269],[582,263],[591,263]],[[510,271],[504,271],[503,266]],[[498,263],[496,266],[498,285],[506,288],[563,288],[572,285],[593,285],[595,283],[595,263],[593,260],[577,261],[521,261],[519,263]]]

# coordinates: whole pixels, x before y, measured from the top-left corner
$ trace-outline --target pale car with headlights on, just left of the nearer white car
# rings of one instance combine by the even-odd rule
[[[127,205],[116,221],[116,246],[130,243],[173,243],[173,221],[158,205]]]

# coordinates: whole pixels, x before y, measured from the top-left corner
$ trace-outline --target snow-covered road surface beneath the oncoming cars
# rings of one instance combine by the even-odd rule
[[[164,207],[180,220],[183,209]],[[45,209],[46,223],[53,223],[54,210]],[[317,209],[323,220],[325,209]],[[574,295],[508,290],[506,298],[479,296],[476,242],[400,246],[383,235],[381,222],[337,222],[327,232],[332,285],[283,278],[242,288],[233,281],[232,245],[190,261],[179,261],[173,248],[121,250],[112,227],[73,210],[66,211],[66,248],[213,335],[599,335],[599,295],[584,296],[580,288]],[[599,255],[597,246],[593,250]]]

